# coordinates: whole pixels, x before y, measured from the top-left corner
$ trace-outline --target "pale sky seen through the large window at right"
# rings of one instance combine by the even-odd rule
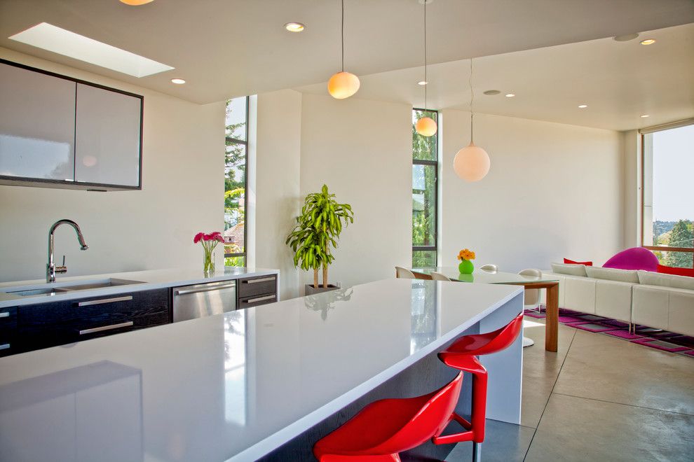
[[[694,221],[694,125],[653,134],[653,221]]]

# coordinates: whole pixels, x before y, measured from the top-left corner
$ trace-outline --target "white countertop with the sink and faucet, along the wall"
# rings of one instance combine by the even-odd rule
[[[0,308],[18,307],[25,304],[57,302],[60,300],[74,300],[84,297],[102,297],[104,295],[114,295],[116,293],[137,292],[139,290],[151,290],[155,288],[189,286],[215,281],[230,281],[249,276],[266,276],[268,274],[278,274],[277,269],[262,268],[243,268],[243,267],[223,267],[217,269],[214,274],[205,276],[202,269],[151,269],[148,271],[132,271],[108,274],[92,274],[89,276],[65,276],[57,277],[54,283],[46,283],[45,280],[36,279],[33,281],[13,281],[0,283]],[[76,282],[104,281],[106,279],[125,279],[137,281],[138,283],[126,284],[124,286],[110,286],[88,290],[74,290],[72,292],[59,293],[56,295],[15,295],[8,293],[11,290],[27,290],[34,288],[60,288],[69,286]]]

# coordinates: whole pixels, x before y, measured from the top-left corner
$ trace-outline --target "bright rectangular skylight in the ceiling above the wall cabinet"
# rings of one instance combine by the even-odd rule
[[[135,55],[135,53],[121,50],[121,48],[107,45],[93,38],[60,29],[60,27],[50,25],[48,22],[41,22],[34,27],[29,27],[29,29],[10,38],[58,55],[127,73],[133,77],[151,76],[153,73],[174,69],[166,64],[161,64],[161,62]]]

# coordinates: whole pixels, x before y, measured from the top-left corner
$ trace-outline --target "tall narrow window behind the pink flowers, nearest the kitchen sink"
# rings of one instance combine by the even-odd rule
[[[246,153],[248,151],[248,97],[226,101],[226,155],[224,156],[224,266],[246,264]]]

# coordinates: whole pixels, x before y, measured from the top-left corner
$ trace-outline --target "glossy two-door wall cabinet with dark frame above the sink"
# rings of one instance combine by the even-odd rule
[[[0,59],[0,184],[142,188],[143,100]]]

